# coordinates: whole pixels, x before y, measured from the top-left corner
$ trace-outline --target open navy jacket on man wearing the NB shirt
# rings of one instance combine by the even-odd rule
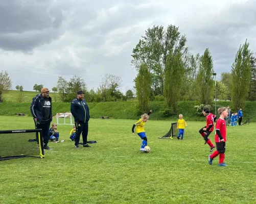
[[[40,122],[43,117],[42,109],[43,109],[43,97],[42,94],[38,94],[32,99],[32,103],[30,105],[30,112],[33,116],[33,118],[37,118],[37,120]],[[53,120],[53,114],[52,114],[52,98],[49,96],[49,101],[51,102],[51,110],[50,110],[50,122]]]

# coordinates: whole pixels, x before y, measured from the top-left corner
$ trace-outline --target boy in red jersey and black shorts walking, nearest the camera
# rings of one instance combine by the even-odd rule
[[[225,118],[228,115],[228,110],[226,108],[219,108],[218,113],[220,114],[220,118],[216,123],[216,134],[215,134],[215,142],[217,146],[217,150],[213,152],[212,155],[208,157],[208,163],[210,165],[213,164],[213,159],[220,155],[219,166],[227,166],[224,163],[225,159],[225,149],[226,149],[226,121]]]

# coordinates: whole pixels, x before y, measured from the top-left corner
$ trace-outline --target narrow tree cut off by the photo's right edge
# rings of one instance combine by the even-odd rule
[[[250,58],[251,65],[251,80],[249,84],[249,92],[248,92],[248,100],[255,101],[256,100],[256,58],[251,55]]]

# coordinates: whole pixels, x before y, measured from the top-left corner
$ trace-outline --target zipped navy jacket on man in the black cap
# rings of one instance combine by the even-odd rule
[[[75,118],[75,122],[88,122],[90,119],[90,113],[88,105],[85,101],[78,98],[72,100],[70,111]]]

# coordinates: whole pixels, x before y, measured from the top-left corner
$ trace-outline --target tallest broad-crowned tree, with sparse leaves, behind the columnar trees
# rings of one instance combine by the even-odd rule
[[[168,25],[166,30],[163,26],[154,25],[133,48],[131,63],[136,70],[141,64],[147,64],[152,74],[153,95],[164,93],[164,70],[167,57],[170,53],[174,54],[178,51],[182,53],[182,58],[187,55],[186,42],[187,39],[180,34],[179,28],[175,25]]]

